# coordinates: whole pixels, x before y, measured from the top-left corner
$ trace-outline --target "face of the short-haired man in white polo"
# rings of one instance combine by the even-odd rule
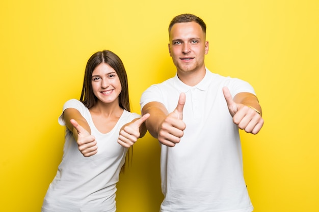
[[[169,52],[177,72],[182,74],[205,69],[208,41],[205,41],[205,34],[198,23],[175,23],[169,37]]]

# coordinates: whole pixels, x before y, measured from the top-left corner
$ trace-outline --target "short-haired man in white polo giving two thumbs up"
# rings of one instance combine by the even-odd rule
[[[174,17],[169,40],[177,74],[141,97],[146,127],[162,146],[161,212],[250,212],[238,128],[256,134],[263,125],[254,89],[205,67],[199,17]]]

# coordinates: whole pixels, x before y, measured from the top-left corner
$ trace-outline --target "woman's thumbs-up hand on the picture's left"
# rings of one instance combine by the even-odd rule
[[[70,119],[70,123],[73,125],[77,132],[77,145],[78,150],[82,153],[84,157],[90,157],[97,153],[97,142],[95,137],[91,135],[87,130],[85,130],[81,125],[79,125],[76,120]]]

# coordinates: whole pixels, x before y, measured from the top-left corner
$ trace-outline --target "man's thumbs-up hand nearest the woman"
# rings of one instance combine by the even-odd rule
[[[184,135],[184,130],[186,128],[183,122],[183,108],[185,104],[185,94],[181,93],[179,95],[179,100],[175,110],[168,114],[168,116],[163,120],[159,131],[157,139],[159,142],[167,146],[175,146],[179,143],[180,138]]]

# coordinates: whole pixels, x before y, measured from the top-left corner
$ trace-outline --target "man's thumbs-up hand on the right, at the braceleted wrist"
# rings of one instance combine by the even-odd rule
[[[233,123],[247,133],[257,134],[263,125],[263,119],[259,112],[244,104],[236,103],[227,87],[223,87],[223,94],[229,113],[233,117]],[[245,96],[241,99],[245,99]],[[257,98],[254,97],[253,101],[257,101]]]

